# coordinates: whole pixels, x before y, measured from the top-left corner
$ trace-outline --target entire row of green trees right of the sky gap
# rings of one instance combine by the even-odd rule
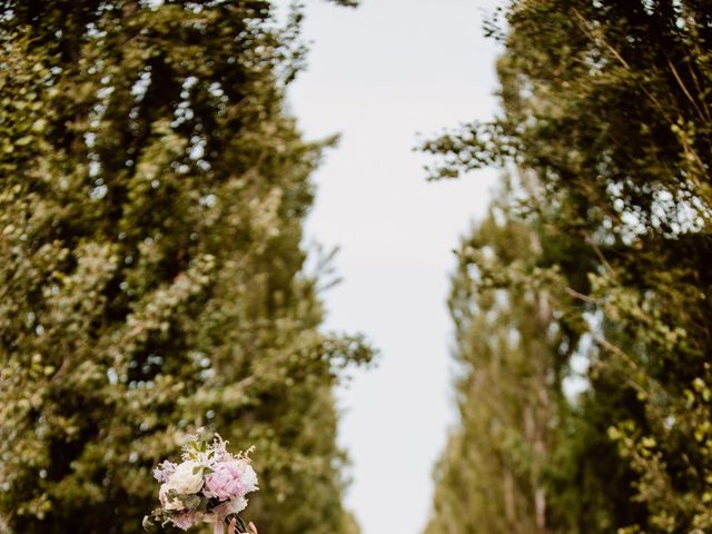
[[[497,17],[502,116],[424,147],[434,178],[507,176],[453,277],[461,421],[425,532],[709,532],[712,4]]]

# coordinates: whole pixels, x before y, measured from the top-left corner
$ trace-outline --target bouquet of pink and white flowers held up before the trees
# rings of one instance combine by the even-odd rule
[[[246,495],[255,492],[257,474],[253,469],[251,448],[238,454],[227,451],[227,442],[218,434],[212,441],[201,428],[182,448],[182,462],[165,461],[154,476],[161,483],[158,491],[160,507],[144,518],[144,527],[172,523],[184,531],[201,522],[215,523],[215,534],[230,525],[230,534],[247,533],[240,516],[247,507]],[[249,525],[249,532],[256,528]]]

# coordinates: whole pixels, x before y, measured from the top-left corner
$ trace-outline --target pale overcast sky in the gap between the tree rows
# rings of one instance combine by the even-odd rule
[[[309,68],[289,91],[308,138],[342,134],[316,174],[307,234],[339,246],[344,281],[325,294],[326,327],[363,332],[379,366],[339,390],[340,443],[354,465],[347,505],[364,534],[417,534],[432,471],[455,421],[445,299],[452,250],[481,216],[495,171],[428,184],[417,132],[488,119],[497,101],[496,0],[307,3]]]

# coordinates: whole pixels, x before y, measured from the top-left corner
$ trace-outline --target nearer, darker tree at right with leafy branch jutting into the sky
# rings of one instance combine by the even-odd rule
[[[548,530],[706,532],[712,7],[517,0],[505,17],[502,117],[423,148],[433,178],[516,170],[560,277],[554,323],[572,335],[556,354],[589,370],[553,419]]]

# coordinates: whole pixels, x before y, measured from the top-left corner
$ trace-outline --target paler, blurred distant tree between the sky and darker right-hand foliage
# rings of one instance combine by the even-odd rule
[[[456,325],[461,424],[436,471],[426,533],[544,532],[544,461],[558,370],[546,285],[526,284],[541,243],[497,202],[459,250],[449,307]]]

